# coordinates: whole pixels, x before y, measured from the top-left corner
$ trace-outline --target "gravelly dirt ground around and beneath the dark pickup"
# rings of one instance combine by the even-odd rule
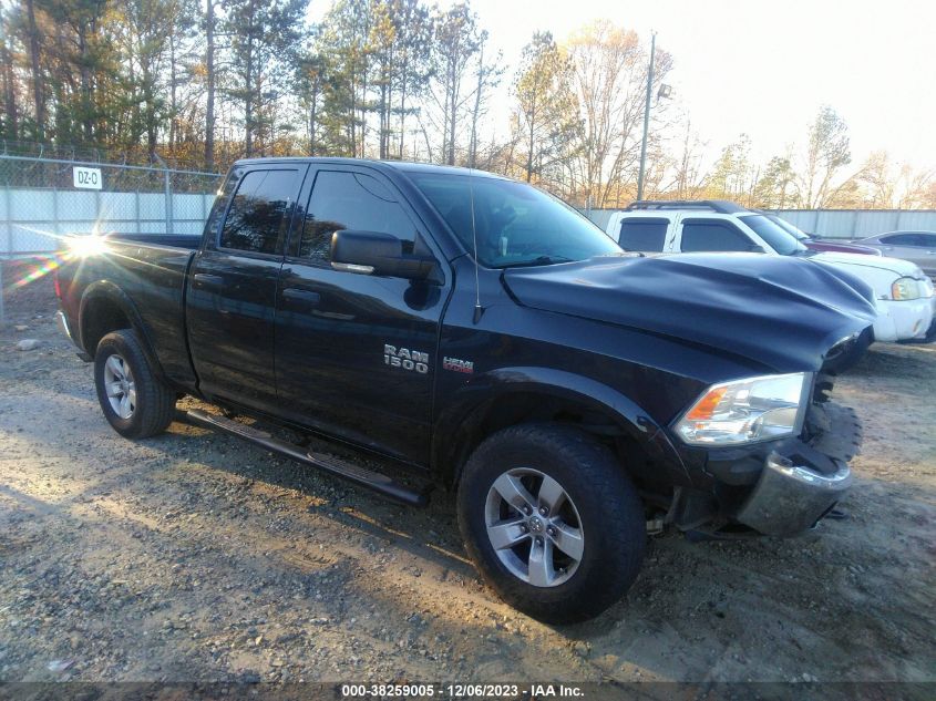
[[[481,583],[444,495],[407,509],[182,423],[121,439],[50,288],[0,331],[0,681],[936,681],[936,346],[839,381],[850,519],[654,537],[623,601],[554,628]]]

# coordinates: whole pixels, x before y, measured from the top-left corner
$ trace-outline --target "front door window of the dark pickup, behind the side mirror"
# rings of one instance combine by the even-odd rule
[[[393,194],[377,178],[348,171],[322,171],[306,208],[299,256],[327,262],[331,235],[343,229],[390,234],[412,252],[416,230]]]

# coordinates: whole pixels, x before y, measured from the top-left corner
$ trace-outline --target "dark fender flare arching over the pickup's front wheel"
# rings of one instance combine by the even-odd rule
[[[455,436],[471,431],[483,420],[477,415],[483,406],[500,398],[518,393],[536,393],[569,399],[593,406],[608,415],[621,431],[637,441],[649,457],[675,471],[691,484],[691,478],[666,430],[631,399],[592,378],[566,370],[541,367],[500,368],[472,378],[445,402],[445,409],[434,422],[432,432],[433,472],[448,486],[457,483],[462,457],[457,454]]]

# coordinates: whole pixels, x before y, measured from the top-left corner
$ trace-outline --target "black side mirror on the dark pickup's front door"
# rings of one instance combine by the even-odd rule
[[[424,280],[435,258],[403,252],[403,241],[379,231],[344,229],[331,235],[331,267],[336,270]]]

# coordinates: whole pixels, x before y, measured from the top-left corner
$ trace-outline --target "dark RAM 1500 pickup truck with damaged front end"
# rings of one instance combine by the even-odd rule
[[[188,394],[223,410],[189,421],[400,502],[453,489],[484,577],[552,622],[627,590],[648,524],[826,515],[860,442],[833,369],[874,319],[808,260],[628,255],[528,185],[349,159],[239,162],[200,239],[76,238],[58,289],[119,433]]]

